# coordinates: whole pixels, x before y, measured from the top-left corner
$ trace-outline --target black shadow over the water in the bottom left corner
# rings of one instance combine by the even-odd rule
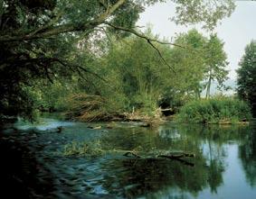
[[[43,194],[52,192],[52,178],[47,178],[51,173],[35,157],[35,150],[39,151],[41,145],[28,148],[29,142],[36,142],[35,134],[15,136],[16,133],[19,132],[0,135],[0,198],[43,198]],[[38,180],[40,175],[44,177]]]

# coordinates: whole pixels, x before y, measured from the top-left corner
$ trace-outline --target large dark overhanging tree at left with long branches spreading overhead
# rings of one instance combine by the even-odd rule
[[[144,37],[135,23],[147,5],[163,0],[1,0],[0,110],[29,116],[33,97],[24,86],[35,79],[90,72],[76,59],[82,47],[93,50],[98,37],[124,32]],[[211,30],[232,14],[232,0],[172,0],[176,23],[203,23]],[[153,44],[150,38],[144,37]],[[78,45],[81,44],[82,45]],[[80,46],[80,48],[78,48]]]

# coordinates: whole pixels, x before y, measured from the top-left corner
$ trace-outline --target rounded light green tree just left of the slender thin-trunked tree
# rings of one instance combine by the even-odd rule
[[[174,47],[171,64],[175,75],[176,93],[186,95],[187,98],[198,98],[202,92],[201,82],[204,78],[204,46],[207,38],[195,29],[179,35],[175,43],[185,46],[186,49]]]

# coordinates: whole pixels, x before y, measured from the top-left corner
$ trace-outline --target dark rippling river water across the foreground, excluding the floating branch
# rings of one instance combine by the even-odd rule
[[[91,130],[42,119],[0,130],[0,198],[256,198],[256,126],[137,123]],[[90,124],[92,125],[92,124]],[[62,126],[58,133],[56,127]],[[114,149],[186,151],[183,161],[116,155],[63,157],[71,141],[100,140]],[[4,196],[4,195],[7,196]]]

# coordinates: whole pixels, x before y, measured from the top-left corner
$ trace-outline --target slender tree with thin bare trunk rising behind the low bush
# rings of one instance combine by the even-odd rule
[[[216,34],[210,36],[205,46],[205,75],[206,79],[206,98],[210,96],[211,85],[215,80],[219,88],[223,87],[223,82],[227,79],[228,70],[225,68],[228,65],[227,55],[223,50],[224,43],[217,37]]]

